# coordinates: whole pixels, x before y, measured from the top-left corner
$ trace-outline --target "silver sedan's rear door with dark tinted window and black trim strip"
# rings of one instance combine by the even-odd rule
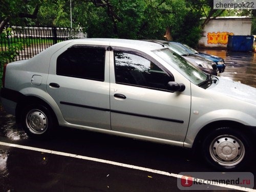
[[[111,129],[105,50],[77,45],[51,58],[47,91],[68,123]]]

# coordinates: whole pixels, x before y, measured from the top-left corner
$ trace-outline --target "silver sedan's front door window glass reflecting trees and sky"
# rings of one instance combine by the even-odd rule
[[[152,61],[144,57],[115,51],[116,83],[167,90],[172,78]]]

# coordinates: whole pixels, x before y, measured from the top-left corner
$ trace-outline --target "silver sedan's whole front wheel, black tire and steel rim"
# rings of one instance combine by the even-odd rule
[[[202,142],[206,161],[220,170],[238,170],[247,165],[253,152],[245,134],[231,127],[220,127],[210,132]]]

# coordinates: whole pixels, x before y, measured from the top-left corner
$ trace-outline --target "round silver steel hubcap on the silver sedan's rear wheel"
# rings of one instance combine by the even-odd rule
[[[48,121],[46,115],[40,110],[31,110],[27,114],[26,124],[34,134],[42,134],[47,130]]]

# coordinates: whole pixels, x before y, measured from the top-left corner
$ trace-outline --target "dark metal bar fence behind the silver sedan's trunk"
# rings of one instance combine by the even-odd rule
[[[0,41],[0,51],[8,51],[15,44],[19,44],[22,49],[16,50],[16,60],[31,58],[63,40],[87,38],[87,33],[77,28],[16,26],[10,28],[11,31]]]

